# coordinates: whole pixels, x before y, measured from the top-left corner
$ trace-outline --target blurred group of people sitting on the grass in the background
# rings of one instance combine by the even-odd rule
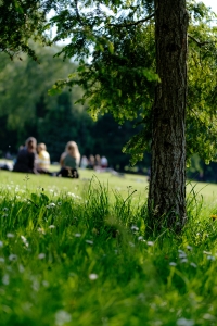
[[[78,167],[94,168],[101,171],[107,167],[107,159],[100,155],[90,155],[89,158],[80,158],[78,146],[75,141],[68,141],[65,151],[60,158],[60,171],[50,172],[50,154],[43,142],[37,145],[34,137],[29,137],[25,141],[25,146],[21,146],[13,171],[34,174],[48,174],[52,176],[78,178]]]

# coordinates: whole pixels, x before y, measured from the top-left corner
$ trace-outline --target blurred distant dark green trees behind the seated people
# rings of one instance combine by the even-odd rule
[[[81,154],[105,155],[110,166],[124,171],[129,165],[129,155],[122,152],[132,137],[136,122],[118,125],[111,114],[94,122],[87,113],[87,105],[75,104],[82,90],[74,87],[49,96],[48,90],[56,78],[75,70],[72,61],[52,57],[60,48],[35,49],[40,51],[40,63],[25,54],[22,61],[1,54],[0,63],[0,154],[16,155],[18,147],[28,136],[46,142],[52,162],[60,160],[68,140],[75,140]],[[138,164],[138,170],[149,168],[150,155]]]

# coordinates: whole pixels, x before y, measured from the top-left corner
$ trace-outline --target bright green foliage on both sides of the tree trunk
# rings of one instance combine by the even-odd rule
[[[71,39],[60,51],[79,62],[76,73],[59,80],[52,92],[65,86],[80,85],[82,100],[89,99],[93,117],[111,112],[122,123],[140,118],[142,131],[125,151],[132,162],[150,149],[155,75],[153,1],[142,5],[125,1],[61,2],[51,20],[58,27],[54,41]],[[188,2],[189,95],[187,114],[187,156],[197,152],[209,162],[216,160],[216,17],[202,2]],[[91,60],[87,61],[87,58]],[[204,146],[204,143],[206,146]]]

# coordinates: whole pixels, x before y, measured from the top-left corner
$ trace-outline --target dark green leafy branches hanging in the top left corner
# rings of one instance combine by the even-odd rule
[[[29,40],[46,42],[43,26],[46,20],[44,1],[1,0],[0,1],[0,51],[11,59],[21,52],[37,60]]]

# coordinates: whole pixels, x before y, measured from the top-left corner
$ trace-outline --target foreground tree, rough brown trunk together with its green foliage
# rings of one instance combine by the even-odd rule
[[[157,224],[161,228],[165,224],[180,229],[186,221],[186,121],[189,130],[190,125],[196,123],[196,115],[203,111],[200,104],[196,105],[196,97],[192,96],[186,120],[188,20],[197,55],[203,41],[197,40],[195,35],[201,37],[203,34],[205,42],[216,36],[215,28],[205,24],[212,14],[203,4],[190,1],[188,9],[191,14],[188,17],[184,0],[141,3],[94,1],[92,4],[81,1],[79,7],[76,1],[68,4],[63,0],[61,3],[56,16],[51,20],[58,27],[54,40],[71,37],[72,42],[61,53],[65,58],[76,55],[79,68],[77,74],[69,76],[72,80],[59,82],[55,88],[81,85],[84,100],[89,99],[93,116],[112,112],[122,123],[140,114],[143,130],[125,150],[131,152],[135,160],[141,159],[152,138],[149,208],[155,218],[152,215],[150,227],[153,229]],[[201,29],[202,25],[205,28]],[[195,49],[196,43],[200,49]],[[212,42],[212,46],[216,49],[215,43]],[[193,52],[190,53],[193,65]],[[86,58],[90,55],[91,61],[88,62]],[[205,65],[212,70],[210,61],[207,57],[204,59]],[[192,74],[196,74],[195,65],[190,76]],[[195,85],[191,87],[194,89]],[[209,88],[208,92],[212,91]],[[196,114],[189,113],[192,103]],[[203,135],[208,129],[207,122],[214,116],[210,101],[204,108]],[[202,135],[201,127],[197,129]],[[215,130],[203,137],[208,141],[216,139]],[[187,138],[188,152],[192,152],[190,138]],[[200,140],[193,147],[194,151],[202,150],[205,156],[214,158],[214,151],[205,153]]]

